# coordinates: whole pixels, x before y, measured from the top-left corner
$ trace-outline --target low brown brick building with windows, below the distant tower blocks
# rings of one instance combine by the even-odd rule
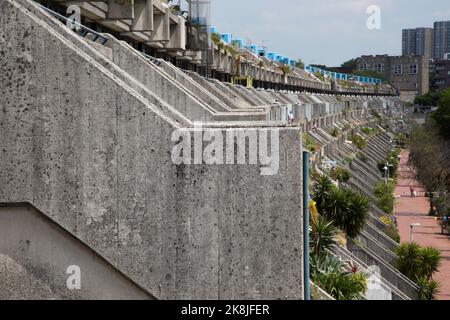
[[[417,95],[429,91],[430,59],[426,56],[362,56],[356,59],[359,71],[376,71],[383,74],[400,93],[404,101],[413,101]]]

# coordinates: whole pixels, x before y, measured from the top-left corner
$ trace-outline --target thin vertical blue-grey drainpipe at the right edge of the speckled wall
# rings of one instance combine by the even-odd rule
[[[309,152],[303,151],[303,287],[304,299],[311,300],[309,281]]]

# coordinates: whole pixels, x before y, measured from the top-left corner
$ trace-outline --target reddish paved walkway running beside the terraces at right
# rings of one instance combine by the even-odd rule
[[[398,171],[398,182],[395,188],[397,196],[395,210],[402,242],[410,242],[410,225],[420,223],[421,227],[414,228],[413,239],[421,246],[434,247],[441,251],[442,264],[435,280],[440,283],[439,300],[450,300],[450,239],[441,235],[439,221],[428,216],[429,201],[423,197],[424,189],[414,179],[414,172],[408,164],[409,152],[401,153]],[[417,198],[411,198],[410,186],[417,191]],[[398,197],[400,196],[400,197]]]

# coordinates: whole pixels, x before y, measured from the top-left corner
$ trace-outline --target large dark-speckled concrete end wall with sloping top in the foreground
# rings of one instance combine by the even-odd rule
[[[176,166],[178,125],[0,1],[0,202],[29,202],[156,298],[301,299],[301,145],[280,171]],[[1,235],[0,235],[1,237]]]

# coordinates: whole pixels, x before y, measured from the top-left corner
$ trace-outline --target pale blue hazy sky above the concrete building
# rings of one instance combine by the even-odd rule
[[[211,0],[219,32],[305,63],[340,65],[362,54],[401,54],[401,30],[450,20],[449,0]],[[368,6],[381,9],[369,30]]]

